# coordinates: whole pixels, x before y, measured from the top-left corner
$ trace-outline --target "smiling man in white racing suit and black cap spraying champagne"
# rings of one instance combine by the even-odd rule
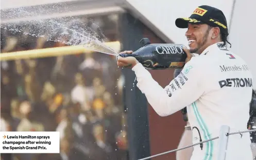
[[[193,144],[218,136],[222,125],[230,126],[230,132],[247,130],[252,74],[243,59],[225,46],[228,28],[224,13],[200,6],[189,18],[176,19],[176,26],[187,28],[190,49],[184,48],[186,64],[165,88],[134,57],[119,57],[117,65],[132,68],[138,88],[160,116],[186,106]],[[191,159],[217,159],[218,144],[215,139],[194,146]],[[226,159],[251,160],[250,144],[249,133],[230,135]]]

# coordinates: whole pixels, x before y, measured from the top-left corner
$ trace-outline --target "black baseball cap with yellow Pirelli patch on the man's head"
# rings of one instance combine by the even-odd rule
[[[220,32],[228,33],[228,25],[224,13],[211,6],[199,6],[189,18],[177,18],[175,21],[178,28],[187,28],[189,23],[208,24],[212,27],[219,27]]]

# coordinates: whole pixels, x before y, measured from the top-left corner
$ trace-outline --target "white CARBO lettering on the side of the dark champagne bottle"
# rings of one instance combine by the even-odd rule
[[[156,51],[159,54],[185,54],[182,46],[157,46]]]

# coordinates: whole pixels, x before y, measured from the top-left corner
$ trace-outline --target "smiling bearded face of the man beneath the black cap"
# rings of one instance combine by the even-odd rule
[[[211,28],[206,24],[189,24],[185,36],[189,41],[191,53],[201,54],[209,46],[209,41],[211,41],[210,30]]]

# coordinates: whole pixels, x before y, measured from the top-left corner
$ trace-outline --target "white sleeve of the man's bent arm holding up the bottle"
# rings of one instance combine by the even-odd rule
[[[195,102],[203,93],[203,72],[193,61],[186,63],[181,73],[162,88],[142,66],[132,70],[137,77],[137,87],[145,94],[148,103],[160,116],[173,114]]]

